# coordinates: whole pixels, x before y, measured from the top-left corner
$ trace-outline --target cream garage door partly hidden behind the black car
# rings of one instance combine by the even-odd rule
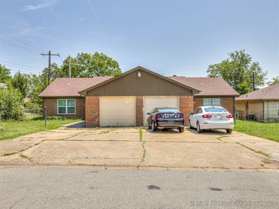
[[[179,98],[177,96],[145,96],[144,97],[144,125],[146,125],[147,115],[154,107],[176,107],[179,108]]]

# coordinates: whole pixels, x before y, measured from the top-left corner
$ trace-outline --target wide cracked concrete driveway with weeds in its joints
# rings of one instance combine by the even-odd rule
[[[1,166],[95,166],[105,169],[268,171],[279,169],[279,144],[223,131],[197,134],[140,128],[62,127],[0,141]]]

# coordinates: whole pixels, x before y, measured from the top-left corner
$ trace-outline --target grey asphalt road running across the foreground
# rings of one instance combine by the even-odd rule
[[[278,183],[276,171],[1,168],[0,208],[278,208]]]

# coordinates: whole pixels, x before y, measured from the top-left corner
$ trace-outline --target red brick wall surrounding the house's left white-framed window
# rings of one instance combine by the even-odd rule
[[[70,98],[69,98],[70,99]],[[57,99],[44,98],[43,107],[47,107],[47,116],[61,116],[65,118],[85,118],[85,99],[75,99],[75,114],[57,114]]]

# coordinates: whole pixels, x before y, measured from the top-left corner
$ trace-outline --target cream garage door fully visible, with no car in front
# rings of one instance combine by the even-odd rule
[[[100,126],[135,125],[135,97],[101,97]]]

